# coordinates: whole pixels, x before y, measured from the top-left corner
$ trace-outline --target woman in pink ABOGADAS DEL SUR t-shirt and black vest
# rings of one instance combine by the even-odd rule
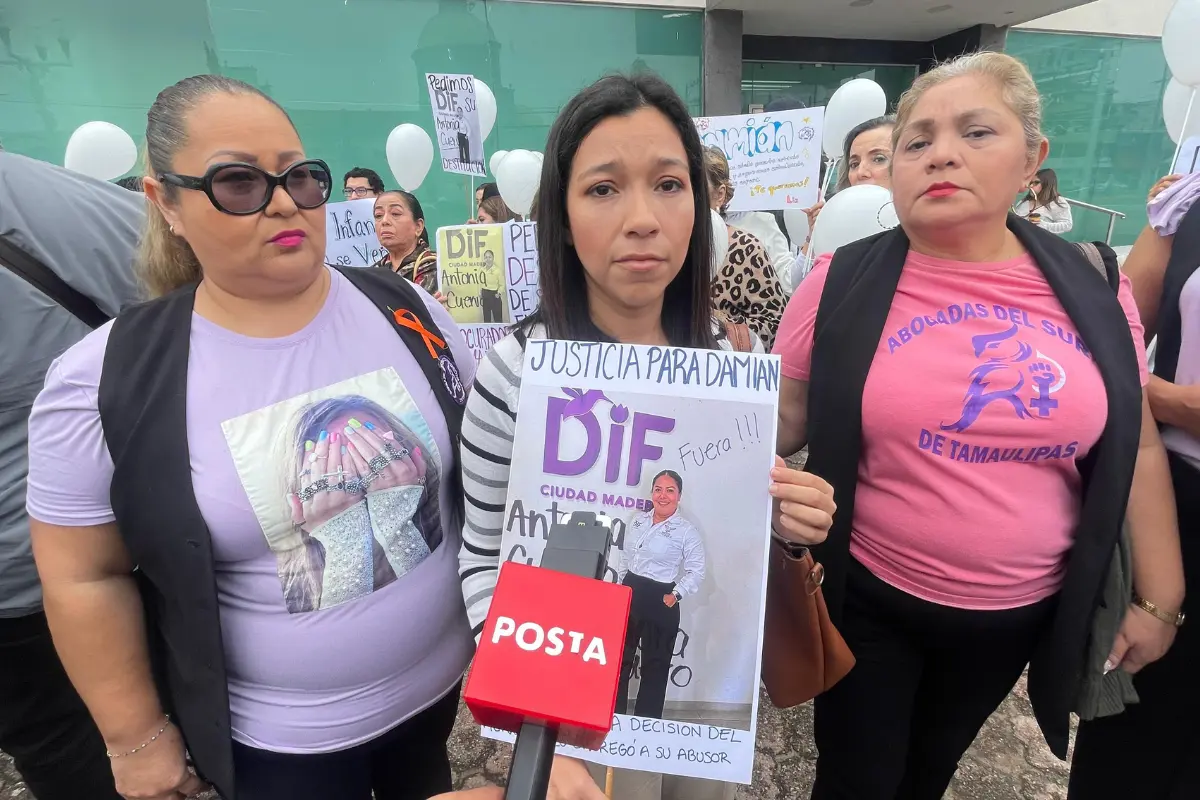
[[[1008,216],[1048,152],[1028,71],[979,53],[926,73],[894,144],[901,228],[820,258],[775,343],[779,452],[808,444],[836,493],[817,558],[857,657],[817,698],[820,800],[941,798],[1031,662],[1066,757],[1127,498],[1136,593],[1165,608],[1183,593],[1128,281],[1114,296],[1072,245]],[[1130,607],[1110,661],[1134,672],[1171,634]]]

